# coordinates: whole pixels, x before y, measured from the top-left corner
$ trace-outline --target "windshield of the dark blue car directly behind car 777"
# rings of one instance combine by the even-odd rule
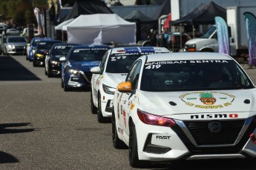
[[[70,51],[70,61],[102,61],[107,48],[82,48]]]

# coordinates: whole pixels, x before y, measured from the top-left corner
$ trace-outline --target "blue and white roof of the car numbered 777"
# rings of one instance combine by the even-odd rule
[[[132,52],[170,52],[164,47],[116,47],[111,53],[132,53]]]

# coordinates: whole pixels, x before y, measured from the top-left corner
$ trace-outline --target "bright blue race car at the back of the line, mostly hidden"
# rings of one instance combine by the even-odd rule
[[[32,38],[29,44],[27,44],[27,55],[26,55],[26,60],[28,61],[33,61],[33,56],[36,51],[36,46],[39,44],[40,41],[42,40],[52,40],[53,38],[47,38],[47,37],[35,37]]]

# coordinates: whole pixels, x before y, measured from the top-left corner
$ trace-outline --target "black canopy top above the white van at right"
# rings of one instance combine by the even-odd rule
[[[220,16],[226,20],[226,9],[211,1],[208,4],[200,4],[199,7],[195,8],[191,13],[188,13],[188,15],[171,21],[171,25],[215,24],[215,16]]]

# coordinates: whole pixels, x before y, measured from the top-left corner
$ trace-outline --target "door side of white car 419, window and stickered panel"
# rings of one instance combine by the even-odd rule
[[[128,118],[130,116],[131,110],[134,108],[134,104],[137,103],[137,95],[136,89],[137,84],[140,78],[140,69],[142,66],[142,61],[136,61],[128,73],[126,77],[126,81],[131,81],[132,91],[131,92],[123,92],[120,97],[120,105],[119,105],[119,113],[120,113],[120,124],[122,129],[128,135],[129,127],[128,127]]]

